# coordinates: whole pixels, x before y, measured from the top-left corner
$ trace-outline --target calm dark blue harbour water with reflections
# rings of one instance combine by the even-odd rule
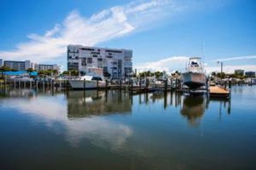
[[[256,169],[256,86],[230,101],[2,91],[0,169]]]

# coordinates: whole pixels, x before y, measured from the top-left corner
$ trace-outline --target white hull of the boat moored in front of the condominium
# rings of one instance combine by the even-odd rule
[[[70,86],[73,89],[84,89],[83,80],[69,80]],[[99,87],[105,87],[104,81],[99,81]],[[95,80],[86,80],[85,89],[97,89],[97,81]]]

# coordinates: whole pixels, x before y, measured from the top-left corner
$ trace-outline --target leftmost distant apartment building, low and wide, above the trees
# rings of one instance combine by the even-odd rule
[[[30,61],[4,61],[4,66],[13,70],[27,70],[30,68]]]

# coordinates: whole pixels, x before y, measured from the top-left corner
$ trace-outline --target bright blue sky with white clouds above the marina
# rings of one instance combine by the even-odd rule
[[[0,58],[59,64],[67,45],[133,50],[133,67],[185,70],[203,56],[207,72],[256,71],[254,0],[1,0]]]

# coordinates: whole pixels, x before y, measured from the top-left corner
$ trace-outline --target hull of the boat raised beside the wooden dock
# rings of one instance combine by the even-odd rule
[[[190,89],[197,89],[205,86],[206,77],[204,73],[187,72],[182,74],[183,84]]]

